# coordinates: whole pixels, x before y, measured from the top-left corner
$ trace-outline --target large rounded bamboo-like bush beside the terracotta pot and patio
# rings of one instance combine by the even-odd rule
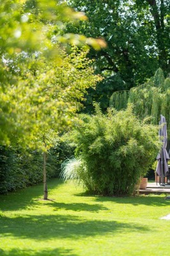
[[[84,166],[76,179],[98,195],[134,194],[160,147],[158,126],[139,120],[130,105],[124,111],[109,109],[107,115],[97,105],[95,115],[82,116],[73,138],[75,156]]]

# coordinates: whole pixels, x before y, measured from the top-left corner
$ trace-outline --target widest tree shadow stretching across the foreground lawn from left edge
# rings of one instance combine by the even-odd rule
[[[14,218],[0,217],[0,234],[3,237],[20,237],[35,240],[105,236],[123,232],[146,232],[148,225],[118,221],[86,220],[72,215],[25,215]]]

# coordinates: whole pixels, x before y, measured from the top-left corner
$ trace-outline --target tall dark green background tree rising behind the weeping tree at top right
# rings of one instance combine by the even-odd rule
[[[109,106],[114,91],[129,90],[153,76],[158,67],[169,72],[169,12],[168,0],[68,0],[75,10],[83,11],[88,21],[68,22],[67,31],[105,38],[108,47],[93,49],[96,72],[105,76],[97,90],[89,89],[86,111],[93,100]]]

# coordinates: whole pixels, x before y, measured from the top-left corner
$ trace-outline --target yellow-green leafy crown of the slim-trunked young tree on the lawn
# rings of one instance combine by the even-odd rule
[[[72,124],[86,88],[101,79],[93,74],[86,53],[73,47],[70,54],[61,52],[58,63],[41,55],[32,56],[29,67],[24,66],[27,72],[20,70],[19,63],[15,65],[14,70],[20,70],[15,76],[11,59],[6,60],[6,69],[14,81],[10,80],[0,92],[2,145],[29,143],[29,147],[40,148],[44,134],[52,136],[52,131],[62,131]]]

